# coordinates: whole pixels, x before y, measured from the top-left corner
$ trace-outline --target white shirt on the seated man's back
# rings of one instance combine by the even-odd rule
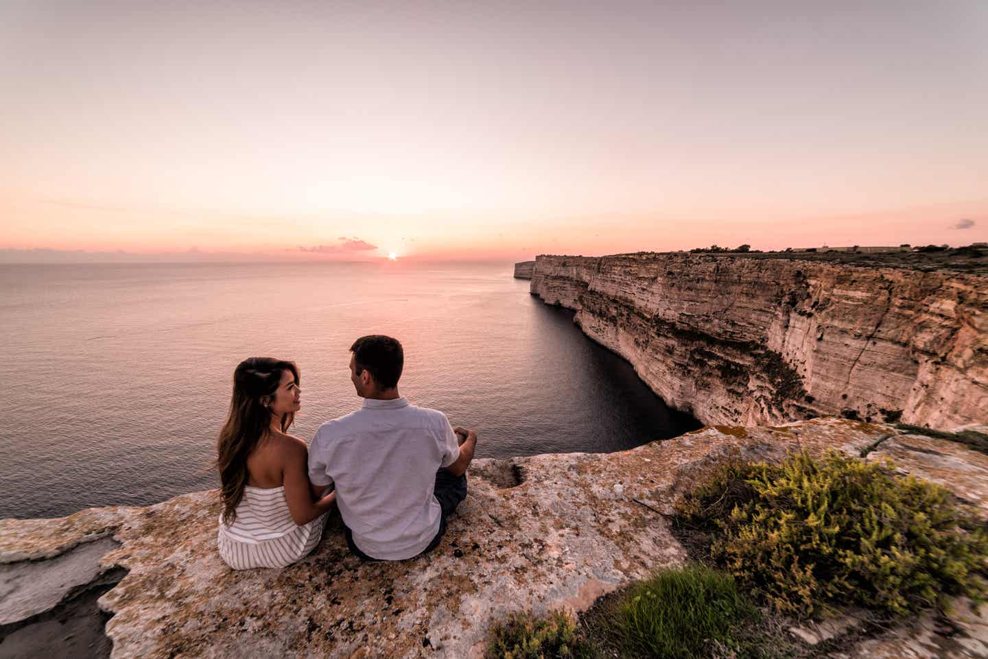
[[[459,454],[446,415],[405,398],[368,398],[323,424],[309,449],[309,479],[336,484],[354,542],[374,558],[410,558],[440,530],[436,472]]]

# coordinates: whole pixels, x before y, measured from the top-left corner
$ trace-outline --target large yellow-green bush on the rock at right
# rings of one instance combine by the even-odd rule
[[[892,614],[983,602],[988,534],[947,489],[841,453],[730,463],[679,507],[710,556],[776,610],[859,604]]]

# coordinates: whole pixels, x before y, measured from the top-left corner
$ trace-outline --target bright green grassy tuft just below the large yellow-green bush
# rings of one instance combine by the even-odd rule
[[[691,659],[715,645],[737,648],[734,631],[757,616],[731,575],[692,565],[632,585],[613,605],[606,632],[624,657]]]

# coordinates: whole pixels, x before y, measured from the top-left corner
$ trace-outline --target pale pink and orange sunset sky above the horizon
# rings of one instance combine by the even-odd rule
[[[6,0],[0,97],[0,261],[988,240],[985,0]]]

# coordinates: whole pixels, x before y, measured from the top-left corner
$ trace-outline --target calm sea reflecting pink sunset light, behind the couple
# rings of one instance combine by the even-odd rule
[[[0,266],[0,518],[146,505],[206,470],[237,363],[296,362],[294,434],[361,404],[354,339],[405,347],[400,389],[477,455],[610,452],[695,427],[502,266]]]

